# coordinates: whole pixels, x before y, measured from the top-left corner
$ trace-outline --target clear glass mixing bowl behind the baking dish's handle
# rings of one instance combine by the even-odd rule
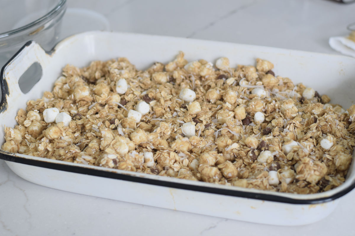
[[[0,14],[0,68],[29,40],[56,44],[66,0],[5,0]]]

